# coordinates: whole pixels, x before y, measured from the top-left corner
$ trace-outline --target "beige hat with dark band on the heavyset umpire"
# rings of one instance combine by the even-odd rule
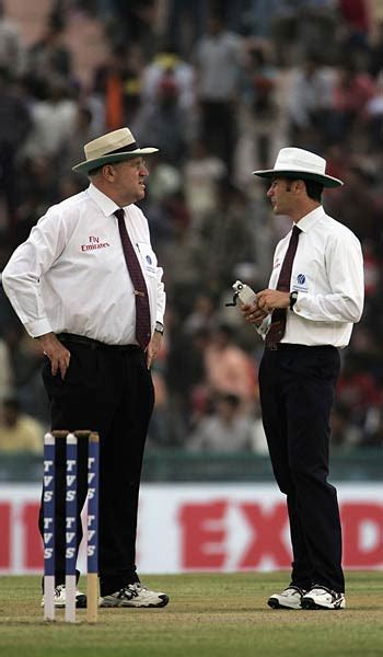
[[[129,128],[119,128],[85,143],[86,160],[72,166],[72,171],[89,173],[108,162],[121,162],[139,155],[155,153],[158,150],[152,147],[140,148]]]

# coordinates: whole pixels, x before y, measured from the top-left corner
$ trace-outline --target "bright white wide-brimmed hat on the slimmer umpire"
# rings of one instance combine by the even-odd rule
[[[253,171],[254,175],[271,178],[278,174],[321,183],[324,187],[338,187],[344,183],[326,174],[326,160],[302,148],[281,148],[274,169]]]

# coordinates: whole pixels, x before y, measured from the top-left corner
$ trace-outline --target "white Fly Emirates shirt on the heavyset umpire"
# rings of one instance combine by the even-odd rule
[[[53,206],[2,273],[2,285],[33,337],[76,333],[112,345],[137,344],[134,287],[126,266],[118,206],[94,185]],[[165,292],[141,210],[125,223],[148,287],[151,325],[163,322]]]

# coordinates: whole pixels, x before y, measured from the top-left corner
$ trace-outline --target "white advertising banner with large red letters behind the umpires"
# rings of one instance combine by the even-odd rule
[[[338,486],[346,568],[383,568],[382,493],[378,484]],[[42,570],[38,506],[38,486],[0,486],[1,573]],[[83,561],[80,555],[80,568]],[[140,573],[265,570],[290,563],[285,498],[272,484],[142,486]]]

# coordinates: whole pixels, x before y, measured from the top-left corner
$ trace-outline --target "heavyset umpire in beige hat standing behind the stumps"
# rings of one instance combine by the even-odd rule
[[[162,339],[165,292],[148,221],[136,205],[149,171],[128,128],[84,147],[90,185],[49,208],[8,263],[2,283],[45,354],[53,429],[100,433],[101,607],[164,607],[136,570],[137,508],[153,408],[150,366]],[[63,443],[56,463],[56,607],[65,607]],[[78,546],[86,497],[86,445],[79,441]],[[44,532],[43,517],[39,518]],[[86,597],[77,592],[77,606]]]

